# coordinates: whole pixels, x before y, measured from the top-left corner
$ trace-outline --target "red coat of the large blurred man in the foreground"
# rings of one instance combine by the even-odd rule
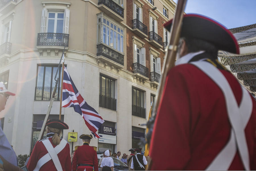
[[[223,68],[220,71],[240,104],[240,84],[230,72]],[[253,111],[245,136],[250,168],[256,170],[256,102],[253,97],[252,101]],[[216,83],[192,64],[172,68],[166,78],[152,133],[151,170],[205,170],[229,141],[230,130],[224,95]],[[229,170],[244,170],[238,150]]]

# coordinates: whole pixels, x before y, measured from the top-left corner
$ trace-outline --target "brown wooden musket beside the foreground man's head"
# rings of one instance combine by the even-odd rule
[[[164,85],[166,82],[166,76],[167,76],[168,72],[170,71],[170,69],[175,66],[177,46],[179,43],[182,19],[183,19],[186,2],[187,2],[187,0],[179,0],[177,7],[176,7],[176,11],[174,14],[174,19],[172,21],[172,27],[171,27],[171,31],[170,31],[171,32],[170,41],[167,46],[168,50],[166,53],[166,61],[164,63],[164,70],[162,70],[161,80],[160,80],[160,84],[159,84],[159,88],[158,88],[157,98],[156,98],[156,101],[154,104],[152,117],[153,116],[155,117],[156,113],[158,111],[158,106],[159,106],[160,100],[162,99]],[[148,170],[150,170],[152,162],[154,162],[154,161],[151,160],[149,162]]]

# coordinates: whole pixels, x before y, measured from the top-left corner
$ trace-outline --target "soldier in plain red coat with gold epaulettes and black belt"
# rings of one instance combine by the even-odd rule
[[[92,146],[89,146],[92,135],[81,135],[84,144],[75,150],[73,157],[72,170],[75,171],[98,171],[98,158],[97,153]]]

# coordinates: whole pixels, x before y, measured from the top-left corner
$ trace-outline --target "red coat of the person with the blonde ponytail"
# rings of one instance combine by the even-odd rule
[[[44,141],[44,140],[43,140]],[[56,146],[52,143],[52,137],[49,138],[49,141],[51,142],[53,148]],[[38,162],[38,160],[43,157],[45,154],[47,154],[48,151],[46,150],[44,144],[42,143],[42,141],[38,141],[36,142],[36,145],[34,146],[34,149],[31,153],[31,156],[29,158],[28,164],[27,164],[27,168],[29,171],[34,170],[34,168],[36,167],[36,164]],[[63,148],[63,150],[61,152],[59,152],[59,154],[57,154],[59,161],[61,163],[62,169],[66,170],[66,171],[70,171],[71,170],[71,160],[70,160],[70,149],[69,149],[69,144],[67,143],[67,145]],[[52,160],[49,160],[48,162],[46,162],[41,168],[40,170],[57,170],[54,166],[54,163]]]

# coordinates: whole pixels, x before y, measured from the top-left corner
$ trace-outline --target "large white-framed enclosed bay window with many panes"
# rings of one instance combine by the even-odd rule
[[[124,28],[103,16],[100,16],[100,18],[98,17],[97,21],[98,43],[104,43],[105,45],[123,53]]]

